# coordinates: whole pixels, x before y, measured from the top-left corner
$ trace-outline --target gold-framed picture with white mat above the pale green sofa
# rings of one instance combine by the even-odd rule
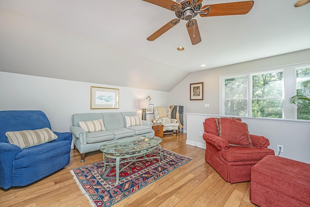
[[[91,86],[91,109],[119,109],[120,90]]]

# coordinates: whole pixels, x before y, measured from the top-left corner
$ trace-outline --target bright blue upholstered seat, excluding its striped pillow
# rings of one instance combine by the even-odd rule
[[[52,142],[20,148],[9,143],[7,131],[35,130],[48,127],[43,111],[0,111],[0,187],[26,186],[62,169],[70,161],[72,134],[54,132]]]

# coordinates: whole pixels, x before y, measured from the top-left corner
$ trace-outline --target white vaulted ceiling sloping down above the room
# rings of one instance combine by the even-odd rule
[[[203,0],[202,5],[225,2],[233,0]],[[55,45],[55,39],[62,38],[59,35],[71,34],[74,36],[72,41],[83,41],[73,49],[72,45],[77,44],[70,41],[66,41],[72,44],[70,47],[63,44],[64,48],[62,45],[57,46],[61,51],[67,51],[55,54],[56,61],[63,61],[60,65],[53,63],[45,66],[44,63],[51,60],[47,58],[44,62],[41,57],[41,62],[38,61],[37,64],[50,67],[49,70],[42,67],[36,69],[33,65],[27,67],[25,62],[31,57],[22,51],[21,55],[29,55],[27,60],[21,58],[20,64],[8,62],[0,70],[170,91],[192,72],[310,48],[310,3],[293,8],[294,0],[254,2],[247,15],[196,16],[202,42],[191,45],[184,20],[155,41],[146,40],[175,18],[175,14],[142,0],[0,0],[0,17],[6,18],[0,20],[0,32],[9,31],[7,28],[12,24],[18,25],[15,21],[27,19],[26,25],[21,23],[23,27],[19,25],[17,29],[26,34],[29,32],[29,35],[34,32],[33,36],[38,31],[42,32],[40,34],[48,31],[46,38],[54,39],[50,44]],[[14,16],[18,16],[17,20]],[[31,31],[27,31],[28,27]],[[56,29],[51,30],[50,27]],[[2,36],[1,44],[5,47],[0,49],[0,54],[5,60],[16,54],[16,50],[22,50],[13,51],[13,46],[18,46],[14,45],[15,37],[10,35],[11,32]],[[68,39],[70,37],[66,40]],[[51,46],[43,47],[40,42],[36,44],[37,55],[46,51],[49,58],[54,56]],[[73,61],[74,57],[68,54],[70,49],[65,47],[71,48],[73,53],[81,48],[84,51]],[[178,51],[178,47],[185,49]],[[92,54],[85,54],[87,49],[91,49]],[[82,60],[80,57],[88,58]],[[87,64],[90,65],[89,68],[85,68]],[[206,66],[201,67],[201,64]]]

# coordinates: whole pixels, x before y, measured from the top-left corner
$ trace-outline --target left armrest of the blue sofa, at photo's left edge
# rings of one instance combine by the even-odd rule
[[[12,187],[13,162],[22,149],[11,143],[0,143],[0,187]]]

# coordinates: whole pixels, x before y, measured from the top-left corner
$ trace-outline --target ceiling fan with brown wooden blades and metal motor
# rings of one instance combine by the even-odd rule
[[[144,0],[157,6],[169,9],[175,12],[177,18],[172,19],[159,30],[154,32],[147,38],[149,41],[155,40],[163,33],[177,25],[180,20],[188,21],[186,23],[187,32],[192,45],[196,45],[202,41],[197,20],[194,18],[198,14],[201,17],[206,16],[226,16],[226,15],[245,15],[253,7],[254,1],[240,1],[231,3],[218,3],[202,6],[202,0]]]

